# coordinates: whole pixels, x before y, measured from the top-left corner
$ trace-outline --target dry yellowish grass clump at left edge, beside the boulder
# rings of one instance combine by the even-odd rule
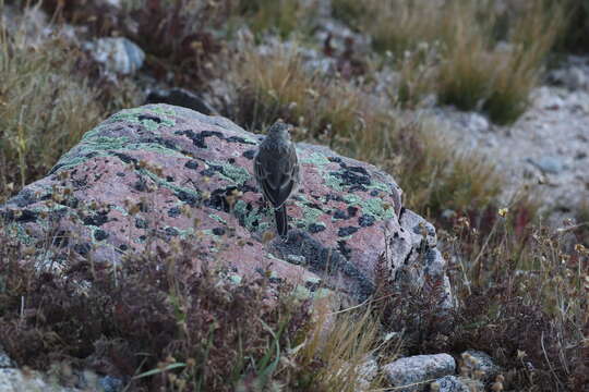
[[[77,56],[59,39],[34,47],[0,30],[0,201],[101,120],[97,91],[75,76]]]

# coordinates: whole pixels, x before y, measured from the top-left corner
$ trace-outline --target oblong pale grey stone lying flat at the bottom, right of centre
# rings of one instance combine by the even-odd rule
[[[418,392],[428,389],[429,380],[454,375],[456,363],[448,354],[416,355],[397,359],[383,370],[397,391]]]

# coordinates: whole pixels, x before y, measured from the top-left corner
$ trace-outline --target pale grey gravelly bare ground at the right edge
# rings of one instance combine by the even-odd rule
[[[507,179],[504,203],[529,193],[552,217],[569,217],[589,196],[588,61],[570,58],[553,71],[552,83],[534,89],[531,107],[510,126],[447,107],[426,112],[456,148],[496,166]]]

